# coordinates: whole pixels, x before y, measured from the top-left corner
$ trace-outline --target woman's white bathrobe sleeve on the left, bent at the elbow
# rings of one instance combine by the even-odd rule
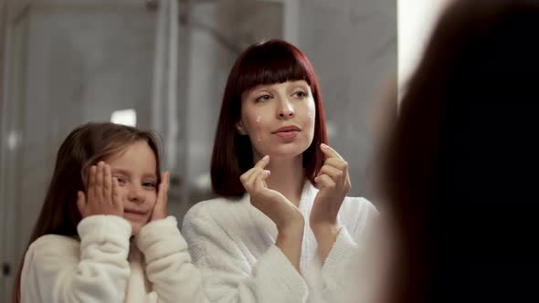
[[[215,214],[218,215],[218,214]],[[193,207],[182,231],[191,256],[203,273],[206,298],[212,303],[301,303],[308,288],[291,262],[273,245],[253,264],[210,214]]]

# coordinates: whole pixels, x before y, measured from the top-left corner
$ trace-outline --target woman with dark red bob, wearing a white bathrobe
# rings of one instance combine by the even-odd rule
[[[217,125],[211,178],[220,197],[192,207],[183,225],[208,300],[340,301],[344,269],[376,211],[346,197],[347,163],[326,145],[307,57],[280,40],[248,47]]]

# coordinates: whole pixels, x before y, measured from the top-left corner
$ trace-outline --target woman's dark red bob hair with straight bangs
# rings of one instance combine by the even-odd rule
[[[241,118],[241,94],[258,85],[305,80],[312,90],[316,108],[314,137],[303,151],[305,177],[314,182],[323,164],[321,143],[327,143],[320,85],[311,62],[297,47],[271,39],[248,47],[236,60],[227,79],[211,161],[214,193],[241,197],[245,188],[239,181],[242,173],[254,166],[251,142],[240,135],[236,123]]]

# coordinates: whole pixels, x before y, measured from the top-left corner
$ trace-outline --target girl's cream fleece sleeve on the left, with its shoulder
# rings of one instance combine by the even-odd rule
[[[123,302],[131,225],[119,216],[92,215],[80,221],[78,232],[80,243],[44,235],[28,247],[23,303]]]

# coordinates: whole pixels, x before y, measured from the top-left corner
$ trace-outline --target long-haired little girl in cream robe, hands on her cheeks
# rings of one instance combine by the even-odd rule
[[[89,123],[62,143],[14,302],[201,302],[200,275],[166,215],[153,133]]]

